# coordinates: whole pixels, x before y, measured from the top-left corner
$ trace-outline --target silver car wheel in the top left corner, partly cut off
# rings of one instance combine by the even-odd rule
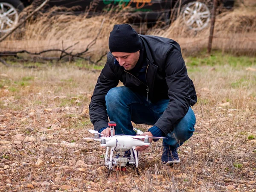
[[[0,32],[9,32],[19,21],[19,12],[24,9],[20,0],[0,0]]]

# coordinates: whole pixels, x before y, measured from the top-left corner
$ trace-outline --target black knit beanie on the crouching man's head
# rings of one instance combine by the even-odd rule
[[[114,25],[110,32],[108,47],[110,52],[137,52],[142,44],[138,33],[128,24]]]

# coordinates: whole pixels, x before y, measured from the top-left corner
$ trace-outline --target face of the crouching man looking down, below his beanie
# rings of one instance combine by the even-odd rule
[[[137,52],[112,52],[112,55],[119,62],[120,66],[123,66],[125,70],[132,70],[137,64],[140,51]]]

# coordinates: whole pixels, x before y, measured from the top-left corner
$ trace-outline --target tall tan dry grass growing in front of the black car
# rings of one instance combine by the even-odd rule
[[[6,41],[0,43],[0,51],[17,51],[26,49],[31,52],[39,52],[45,49],[65,49],[77,42],[75,47],[69,49],[81,52],[99,31],[103,19],[105,19],[102,32],[96,44],[87,52],[90,56],[99,56],[108,51],[108,37],[116,23],[125,23],[125,14],[107,13],[101,16],[85,18],[85,15],[54,15],[52,9],[33,22],[27,23],[22,29],[22,38],[19,34],[12,35]],[[213,49],[230,51],[235,54],[254,55],[256,50],[256,9],[255,7],[240,6],[233,12],[224,12],[216,17]],[[140,31],[140,29],[138,29]],[[177,41],[183,54],[190,55],[207,47],[209,39],[209,27],[195,33],[183,24],[182,19],[172,23],[168,29],[157,27],[148,30],[149,35],[159,35],[172,38]],[[56,55],[56,53],[52,53]]]

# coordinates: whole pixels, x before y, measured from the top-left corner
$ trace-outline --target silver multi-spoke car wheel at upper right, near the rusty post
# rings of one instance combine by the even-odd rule
[[[200,31],[207,27],[211,17],[207,5],[199,1],[184,5],[181,13],[186,26],[195,31]]]

